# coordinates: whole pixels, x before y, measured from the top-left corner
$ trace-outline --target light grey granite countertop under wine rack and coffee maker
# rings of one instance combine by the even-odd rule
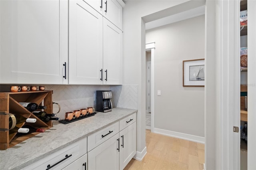
[[[24,140],[7,150],[0,150],[0,169],[24,168],[136,112],[137,110],[134,109],[113,108],[111,112],[98,112],[92,117],[66,125],[54,121],[53,127],[44,133]]]

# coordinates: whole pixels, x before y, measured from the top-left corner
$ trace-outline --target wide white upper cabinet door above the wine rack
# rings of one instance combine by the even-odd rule
[[[67,84],[68,1],[0,3],[0,82]]]

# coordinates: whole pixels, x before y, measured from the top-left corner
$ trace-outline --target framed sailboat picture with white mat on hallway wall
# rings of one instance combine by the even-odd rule
[[[183,87],[204,87],[204,59],[183,61]]]

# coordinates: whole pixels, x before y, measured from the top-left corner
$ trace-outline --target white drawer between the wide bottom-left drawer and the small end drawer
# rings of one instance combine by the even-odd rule
[[[93,148],[95,148],[96,146],[102,144],[103,142],[105,142],[106,140],[108,140],[118,132],[119,132],[119,122],[116,122],[104,129],[101,129],[95,132],[94,134],[91,134],[90,136],[87,137],[88,152]]]

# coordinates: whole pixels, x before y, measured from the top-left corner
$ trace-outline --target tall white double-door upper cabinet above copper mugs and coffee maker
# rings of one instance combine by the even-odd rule
[[[69,1],[69,84],[122,84],[122,31],[83,0]]]

